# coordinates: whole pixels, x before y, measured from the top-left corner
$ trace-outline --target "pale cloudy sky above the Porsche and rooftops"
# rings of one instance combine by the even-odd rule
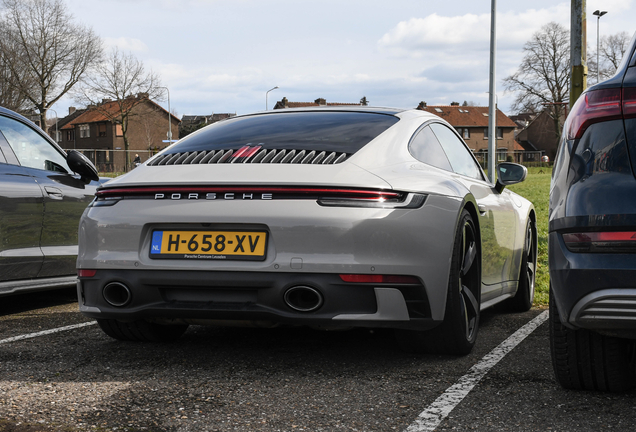
[[[309,102],[414,108],[420,101],[488,104],[488,0],[66,0],[106,48],[130,51],[170,89],[183,114],[265,109],[287,97]],[[587,0],[588,44],[636,30],[632,0]],[[497,95],[523,44],[542,25],[570,27],[570,2],[497,2]],[[72,101],[55,105],[60,117]],[[167,108],[167,103],[162,103]]]

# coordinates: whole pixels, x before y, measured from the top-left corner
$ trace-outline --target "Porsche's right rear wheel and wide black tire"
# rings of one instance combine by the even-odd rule
[[[481,294],[479,237],[470,213],[462,211],[455,234],[444,322],[428,331],[398,330],[407,352],[466,355],[477,340]]]

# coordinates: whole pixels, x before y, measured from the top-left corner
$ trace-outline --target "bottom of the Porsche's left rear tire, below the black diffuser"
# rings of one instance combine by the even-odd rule
[[[114,339],[134,342],[170,342],[179,339],[188,329],[187,324],[162,325],[144,320],[122,322],[98,319],[97,324]]]

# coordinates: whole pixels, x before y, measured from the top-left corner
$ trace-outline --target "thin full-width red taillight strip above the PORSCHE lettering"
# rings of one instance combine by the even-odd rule
[[[338,188],[293,188],[293,187],[249,187],[249,186],[178,186],[178,187],[131,187],[101,189],[95,195],[98,198],[124,197],[132,195],[149,195],[156,193],[209,193],[209,192],[264,192],[264,193],[284,193],[284,194],[307,194],[307,195],[331,195],[331,196],[352,196],[359,199],[396,199],[402,196],[399,192],[389,192],[380,190],[364,189],[338,189]]]

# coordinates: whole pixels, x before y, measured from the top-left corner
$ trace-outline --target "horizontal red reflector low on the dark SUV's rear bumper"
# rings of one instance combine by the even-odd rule
[[[636,231],[570,233],[563,234],[563,241],[572,252],[636,252]]]

